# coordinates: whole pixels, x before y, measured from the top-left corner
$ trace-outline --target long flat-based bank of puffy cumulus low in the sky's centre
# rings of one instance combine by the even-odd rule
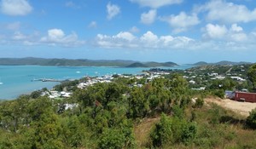
[[[158,37],[153,32],[145,32],[141,37],[135,37],[131,32],[119,32],[108,36],[98,34],[95,45],[106,49],[183,49],[189,47],[194,40],[189,37]]]

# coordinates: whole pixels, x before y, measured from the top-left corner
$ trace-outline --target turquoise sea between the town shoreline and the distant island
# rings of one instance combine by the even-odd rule
[[[162,67],[166,69],[187,69],[189,65]],[[59,80],[79,79],[85,76],[95,77],[113,74],[140,74],[150,68],[125,68],[101,66],[0,66],[0,100],[13,100],[19,95],[32,91],[51,89],[55,82],[32,81],[38,78]]]

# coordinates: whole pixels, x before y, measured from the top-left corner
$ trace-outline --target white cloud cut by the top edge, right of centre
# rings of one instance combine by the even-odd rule
[[[182,3],[183,0],[130,0],[132,3],[138,3],[142,7],[158,9],[162,6]]]

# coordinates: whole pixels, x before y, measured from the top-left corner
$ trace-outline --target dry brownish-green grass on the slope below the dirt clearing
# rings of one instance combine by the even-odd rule
[[[209,104],[201,108],[186,109],[188,120],[194,112],[194,121],[198,125],[197,135],[189,145],[173,144],[162,148],[255,148],[256,130],[246,128],[246,117],[224,109],[216,104]],[[146,148],[149,134],[160,117],[146,118],[138,123],[134,129],[138,148]]]

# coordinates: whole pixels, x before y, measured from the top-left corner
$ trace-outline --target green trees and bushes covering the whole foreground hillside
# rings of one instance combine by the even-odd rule
[[[241,117],[204,104],[207,95],[223,96],[237,83],[212,80],[206,90],[192,90],[184,73],[151,81],[115,76],[85,89],[76,87],[84,79],[75,80],[55,86],[73,91],[70,98],[49,99],[42,89],[1,101],[0,148],[255,147],[255,110]]]

